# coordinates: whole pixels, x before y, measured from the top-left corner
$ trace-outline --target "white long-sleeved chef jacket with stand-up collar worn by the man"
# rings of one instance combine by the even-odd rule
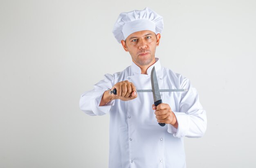
[[[152,92],[138,92],[129,101],[112,100],[99,106],[103,93],[120,81],[128,80],[137,89],[152,89],[150,74],[155,66],[159,89],[189,89],[187,92],[161,92],[178,122],[161,127],[155,118]],[[122,72],[105,78],[81,95],[79,106],[90,116],[110,114],[109,168],[186,168],[183,137],[202,137],[207,127],[206,112],[189,79],[161,66],[159,59],[147,74],[132,63]]]

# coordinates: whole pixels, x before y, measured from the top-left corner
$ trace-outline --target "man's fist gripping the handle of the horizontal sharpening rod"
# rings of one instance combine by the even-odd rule
[[[136,87],[133,83],[129,81],[121,81],[116,83],[111,90],[117,89],[117,95],[109,94],[108,91],[105,91],[99,106],[103,106],[110,102],[111,100],[120,99],[123,101],[128,101],[137,98]]]

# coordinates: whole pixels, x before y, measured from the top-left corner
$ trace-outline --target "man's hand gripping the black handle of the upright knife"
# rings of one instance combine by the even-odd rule
[[[153,104],[152,109],[155,110],[155,118],[157,118],[157,122],[172,124],[173,127],[178,128],[175,114],[168,104],[161,103],[157,105],[157,107]]]

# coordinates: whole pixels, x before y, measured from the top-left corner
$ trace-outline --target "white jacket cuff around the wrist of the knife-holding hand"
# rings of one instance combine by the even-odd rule
[[[184,112],[173,111],[178,122],[178,128],[176,129],[171,124],[168,124],[168,133],[173,133],[174,137],[180,138],[186,135],[186,132],[189,130],[189,115]]]

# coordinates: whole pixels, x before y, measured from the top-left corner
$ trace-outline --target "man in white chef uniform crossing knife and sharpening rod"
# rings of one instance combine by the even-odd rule
[[[106,74],[81,95],[79,106],[85,113],[110,114],[109,168],[186,168],[183,137],[202,137],[206,130],[206,113],[196,89],[155,57],[162,29],[162,17],[149,8],[121,13],[113,33],[130,53],[132,65]],[[136,92],[152,89],[153,67],[159,89],[188,91],[161,92],[163,103],[155,107],[152,92]],[[111,94],[114,89],[117,95]]]

